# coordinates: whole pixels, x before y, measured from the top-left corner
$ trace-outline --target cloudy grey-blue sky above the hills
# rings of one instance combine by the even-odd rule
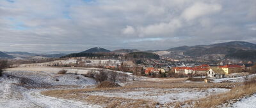
[[[255,0],[0,0],[0,51],[256,43]]]

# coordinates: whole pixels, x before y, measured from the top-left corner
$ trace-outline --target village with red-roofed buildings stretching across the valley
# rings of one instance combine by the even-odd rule
[[[240,76],[256,71],[256,64],[251,61],[231,63],[228,60],[218,64],[200,64],[200,62],[169,60],[166,58],[125,59],[99,57],[61,58],[51,62],[38,64],[16,64],[13,67],[51,66],[51,67],[97,67],[113,71],[129,72],[138,76],[150,78],[227,78],[228,74],[240,73]]]

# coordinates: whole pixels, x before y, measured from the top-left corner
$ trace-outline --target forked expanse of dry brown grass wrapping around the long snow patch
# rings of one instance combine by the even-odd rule
[[[106,107],[155,107],[157,102],[154,102],[154,100],[149,101],[149,100],[140,100],[140,99],[135,100],[130,98],[121,98],[121,97],[93,96],[93,95],[90,95],[90,92],[134,91],[136,90],[136,88],[200,88],[200,89],[233,88],[234,86],[239,86],[242,84],[243,83],[169,83],[169,82],[136,81],[133,83],[129,83],[126,86],[120,87],[120,88],[49,90],[49,91],[42,91],[42,94],[50,97],[89,102],[90,104],[103,105]],[[188,101],[186,103],[188,103]],[[179,107],[182,105],[182,102],[176,102],[172,105],[176,105],[175,107]]]

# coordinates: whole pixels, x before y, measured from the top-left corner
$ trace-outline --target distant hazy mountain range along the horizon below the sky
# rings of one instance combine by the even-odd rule
[[[136,49],[120,49],[110,51],[104,48],[95,47],[90,48],[85,51],[81,51],[80,53],[133,53],[138,52],[140,50]],[[151,53],[161,53],[166,57],[202,57],[204,55],[212,55],[212,54],[220,54],[227,55],[228,58],[247,58],[246,56],[254,57],[254,51],[256,51],[256,44],[248,43],[244,41],[230,41],[227,43],[217,43],[217,44],[209,44],[209,45],[196,45],[196,46],[179,46],[175,48],[170,48],[168,50],[155,50],[155,51],[146,51]],[[242,53],[242,54],[241,54]],[[31,57],[31,56],[42,56],[42,57],[61,57],[66,55],[64,53],[60,54],[52,54],[52,55],[38,55],[35,53],[28,53],[22,51],[14,51],[14,52],[1,52],[0,58],[15,58],[15,57]],[[242,56],[242,57],[241,57]],[[250,58],[249,57],[249,58]]]

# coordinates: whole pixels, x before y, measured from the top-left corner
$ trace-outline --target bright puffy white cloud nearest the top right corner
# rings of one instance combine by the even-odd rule
[[[182,17],[184,17],[186,20],[194,20],[195,18],[209,15],[220,10],[220,4],[195,3],[184,10]]]

